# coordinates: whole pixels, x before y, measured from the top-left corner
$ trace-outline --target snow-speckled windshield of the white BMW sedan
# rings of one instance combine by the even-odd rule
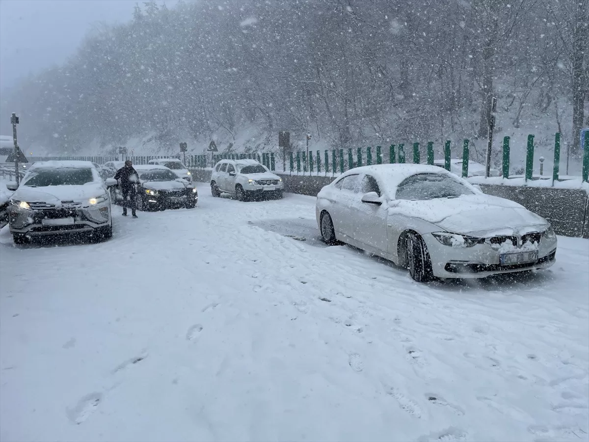
[[[422,201],[435,198],[456,198],[471,194],[474,192],[451,176],[438,173],[420,173],[399,184],[396,199]]]

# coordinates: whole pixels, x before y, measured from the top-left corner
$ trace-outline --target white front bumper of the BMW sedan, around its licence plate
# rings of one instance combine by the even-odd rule
[[[501,265],[503,254],[491,245],[477,244],[469,248],[450,247],[438,242],[432,235],[424,235],[434,276],[438,278],[485,278],[502,273],[547,269],[556,260],[557,239],[542,237],[538,244],[538,259],[534,262]],[[513,250],[517,253],[518,250]]]

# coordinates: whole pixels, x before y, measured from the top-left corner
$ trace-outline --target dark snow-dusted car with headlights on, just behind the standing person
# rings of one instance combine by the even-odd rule
[[[170,169],[158,164],[134,166],[139,175],[137,186],[137,210],[194,209],[198,202],[196,187],[186,182]],[[111,199],[115,203],[123,200],[118,187],[111,187]]]

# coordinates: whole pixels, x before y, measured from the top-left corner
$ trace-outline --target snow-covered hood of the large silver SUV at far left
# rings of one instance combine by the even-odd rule
[[[28,203],[48,203],[58,206],[62,201],[84,202],[104,195],[101,183],[86,183],[83,186],[21,186],[12,194],[12,199]]]

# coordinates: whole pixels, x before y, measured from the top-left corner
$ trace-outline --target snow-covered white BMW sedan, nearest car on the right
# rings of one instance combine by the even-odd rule
[[[547,220],[436,166],[350,169],[320,190],[316,217],[326,243],[392,260],[415,281],[482,278],[555,262],[557,238]]]

